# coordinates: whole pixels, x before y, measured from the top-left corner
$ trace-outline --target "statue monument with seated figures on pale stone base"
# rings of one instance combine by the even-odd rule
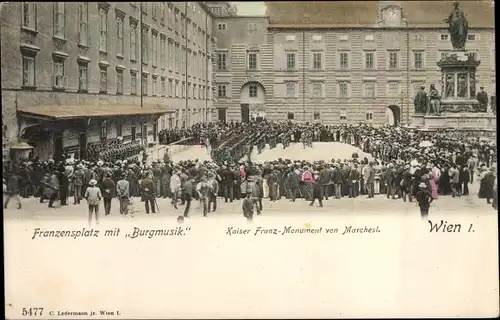
[[[476,69],[481,61],[465,49],[469,31],[467,17],[458,2],[453,6],[444,19],[449,26],[453,50],[437,62],[441,68],[443,92],[439,93],[434,84],[431,84],[428,95],[422,88],[414,100],[415,114],[411,125],[420,130],[456,129],[488,135],[494,133],[496,120],[476,92]]]

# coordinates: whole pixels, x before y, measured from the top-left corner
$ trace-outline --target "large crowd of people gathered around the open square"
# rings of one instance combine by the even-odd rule
[[[146,213],[156,213],[156,199],[162,197],[170,198],[175,208],[184,205],[183,216],[188,216],[193,199],[200,200],[203,215],[218,209],[219,198],[224,202],[245,199],[242,208],[251,219],[254,211],[260,214],[264,210],[265,197],[271,201],[302,198],[310,205],[318,201],[323,206],[323,200],[330,198],[372,198],[379,194],[403,201],[416,198],[426,216],[429,207],[426,209],[425,203],[439,196],[466,196],[469,184],[477,179],[478,196],[488,203],[493,200],[493,206],[497,206],[496,141],[449,131],[426,133],[364,124],[329,126],[265,120],[199,124],[190,130],[164,131],[163,142],[192,134],[192,140],[215,146],[212,161],[173,163],[166,156],[152,165],[126,158],[21,163],[4,172],[4,208],[12,198],[21,208],[20,196],[39,197],[41,203],[48,200],[49,207],[55,207],[56,200],[68,205],[72,197],[75,205],[86,198],[89,213],[96,214],[96,204],[102,198],[107,215],[111,213],[111,199],[118,198],[120,213],[127,214],[130,199],[140,197]],[[373,159],[360,159],[358,154],[341,159],[335,157],[335,150],[331,161],[276,159],[254,163],[251,158],[254,148],[261,152],[266,144],[287,148],[291,142],[303,142],[307,148],[313,141],[351,144]]]

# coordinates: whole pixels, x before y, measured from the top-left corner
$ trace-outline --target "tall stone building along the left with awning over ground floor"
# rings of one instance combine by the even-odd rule
[[[22,139],[41,158],[83,155],[88,144],[154,143],[161,129],[212,120],[203,2],[0,6],[4,153]]]

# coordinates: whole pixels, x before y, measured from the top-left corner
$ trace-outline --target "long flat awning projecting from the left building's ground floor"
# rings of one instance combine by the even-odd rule
[[[33,107],[18,107],[19,114],[26,117],[45,120],[65,120],[75,118],[97,118],[112,116],[139,116],[147,114],[165,114],[175,111],[160,105],[47,105]]]

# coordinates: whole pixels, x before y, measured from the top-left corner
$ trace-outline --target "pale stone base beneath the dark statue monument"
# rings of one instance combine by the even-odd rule
[[[478,136],[495,136],[496,116],[492,113],[414,114],[411,127],[419,131],[463,131]]]

